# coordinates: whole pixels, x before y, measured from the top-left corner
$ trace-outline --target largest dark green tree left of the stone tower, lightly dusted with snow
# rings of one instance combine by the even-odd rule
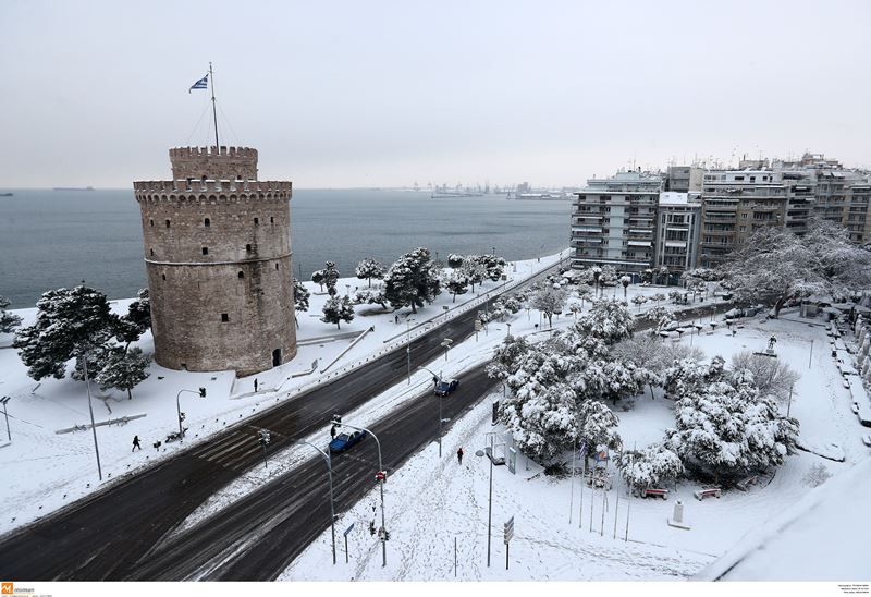
[[[63,379],[70,358],[102,346],[114,334],[116,317],[106,295],[84,284],[45,292],[36,306],[36,322],[19,329],[12,345],[37,381]]]

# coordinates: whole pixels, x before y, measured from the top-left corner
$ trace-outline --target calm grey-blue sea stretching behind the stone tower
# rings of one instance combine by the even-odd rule
[[[0,197],[0,295],[32,307],[47,290],[83,280],[109,298],[147,285],[139,206],[133,190],[3,190]],[[341,276],[372,257],[389,266],[418,246],[495,253],[507,260],[568,246],[568,200],[516,200],[504,194],[430,197],[426,191],[294,188],[294,275],[308,280],[327,260]],[[438,255],[437,255],[438,254]]]

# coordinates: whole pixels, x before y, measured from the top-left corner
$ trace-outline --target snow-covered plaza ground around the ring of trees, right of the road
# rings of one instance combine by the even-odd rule
[[[708,321],[706,318],[703,324]],[[758,316],[741,320],[739,326],[734,337],[721,325],[712,333],[692,338],[685,334],[679,341],[691,341],[709,357],[719,354],[728,361],[745,349],[763,350],[774,334],[778,358],[801,374],[790,415],[801,422],[802,440],[837,444],[844,452],[844,463],[800,452],[788,458],[773,477],[750,486],[748,491],[731,490],[720,499],[704,501],[694,498],[692,491],[699,486],[686,480],[676,488],[670,487],[667,500],[629,498],[624,483],[614,475],[614,488],[603,502],[601,490],[592,495],[585,487],[581,497],[578,478],[573,483],[569,478],[545,477],[539,466],[518,455],[516,474],[511,474],[507,466],[493,468],[492,561],[488,568],[490,466],[486,458],[476,458],[475,451],[484,447],[486,434],[503,431],[501,426],[490,424],[491,402],[499,399],[494,394],[453,425],[445,436],[445,455],[441,461],[437,447],[431,444],[391,476],[385,485],[391,533],[385,568],[381,566],[378,540],[368,533],[371,507],[377,503],[373,489],[336,523],[341,552],[338,565],[331,562],[327,532],[281,578],[628,581],[682,580],[695,575],[745,535],[762,528],[766,521],[807,496],[811,488],[805,476],[813,465],[823,464],[834,476],[827,483],[834,483],[837,475],[871,454],[861,443],[867,429],[850,412],[849,394],[841,382],[823,327],[809,325],[788,312],[778,320]],[[518,330],[513,326],[512,332]],[[618,411],[624,443],[641,448],[660,440],[664,429],[672,426],[671,406],[671,401],[652,400],[647,394],[637,399],[633,411]],[[462,465],[454,455],[458,447],[466,452]],[[684,521],[690,525],[689,531],[666,523],[677,500],[684,504]],[[503,524],[512,516],[515,536],[511,544],[511,568],[506,571],[502,534]],[[348,534],[349,563],[345,564],[341,534],[351,524],[354,529]],[[852,534],[837,525],[825,529],[823,523],[815,528],[815,537],[826,543],[842,540],[845,532]],[[858,533],[855,538],[860,541],[861,531]],[[813,549],[824,557],[824,544]],[[848,557],[852,560],[842,562],[838,570],[868,570],[863,550],[852,550]]]

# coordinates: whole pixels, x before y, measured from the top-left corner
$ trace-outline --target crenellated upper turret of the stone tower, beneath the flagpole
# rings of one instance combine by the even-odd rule
[[[173,147],[172,178],[257,180],[257,149],[250,147]]]

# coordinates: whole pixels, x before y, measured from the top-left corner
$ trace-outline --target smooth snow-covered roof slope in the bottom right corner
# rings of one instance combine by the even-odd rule
[[[868,581],[871,459],[810,489],[697,581]]]

